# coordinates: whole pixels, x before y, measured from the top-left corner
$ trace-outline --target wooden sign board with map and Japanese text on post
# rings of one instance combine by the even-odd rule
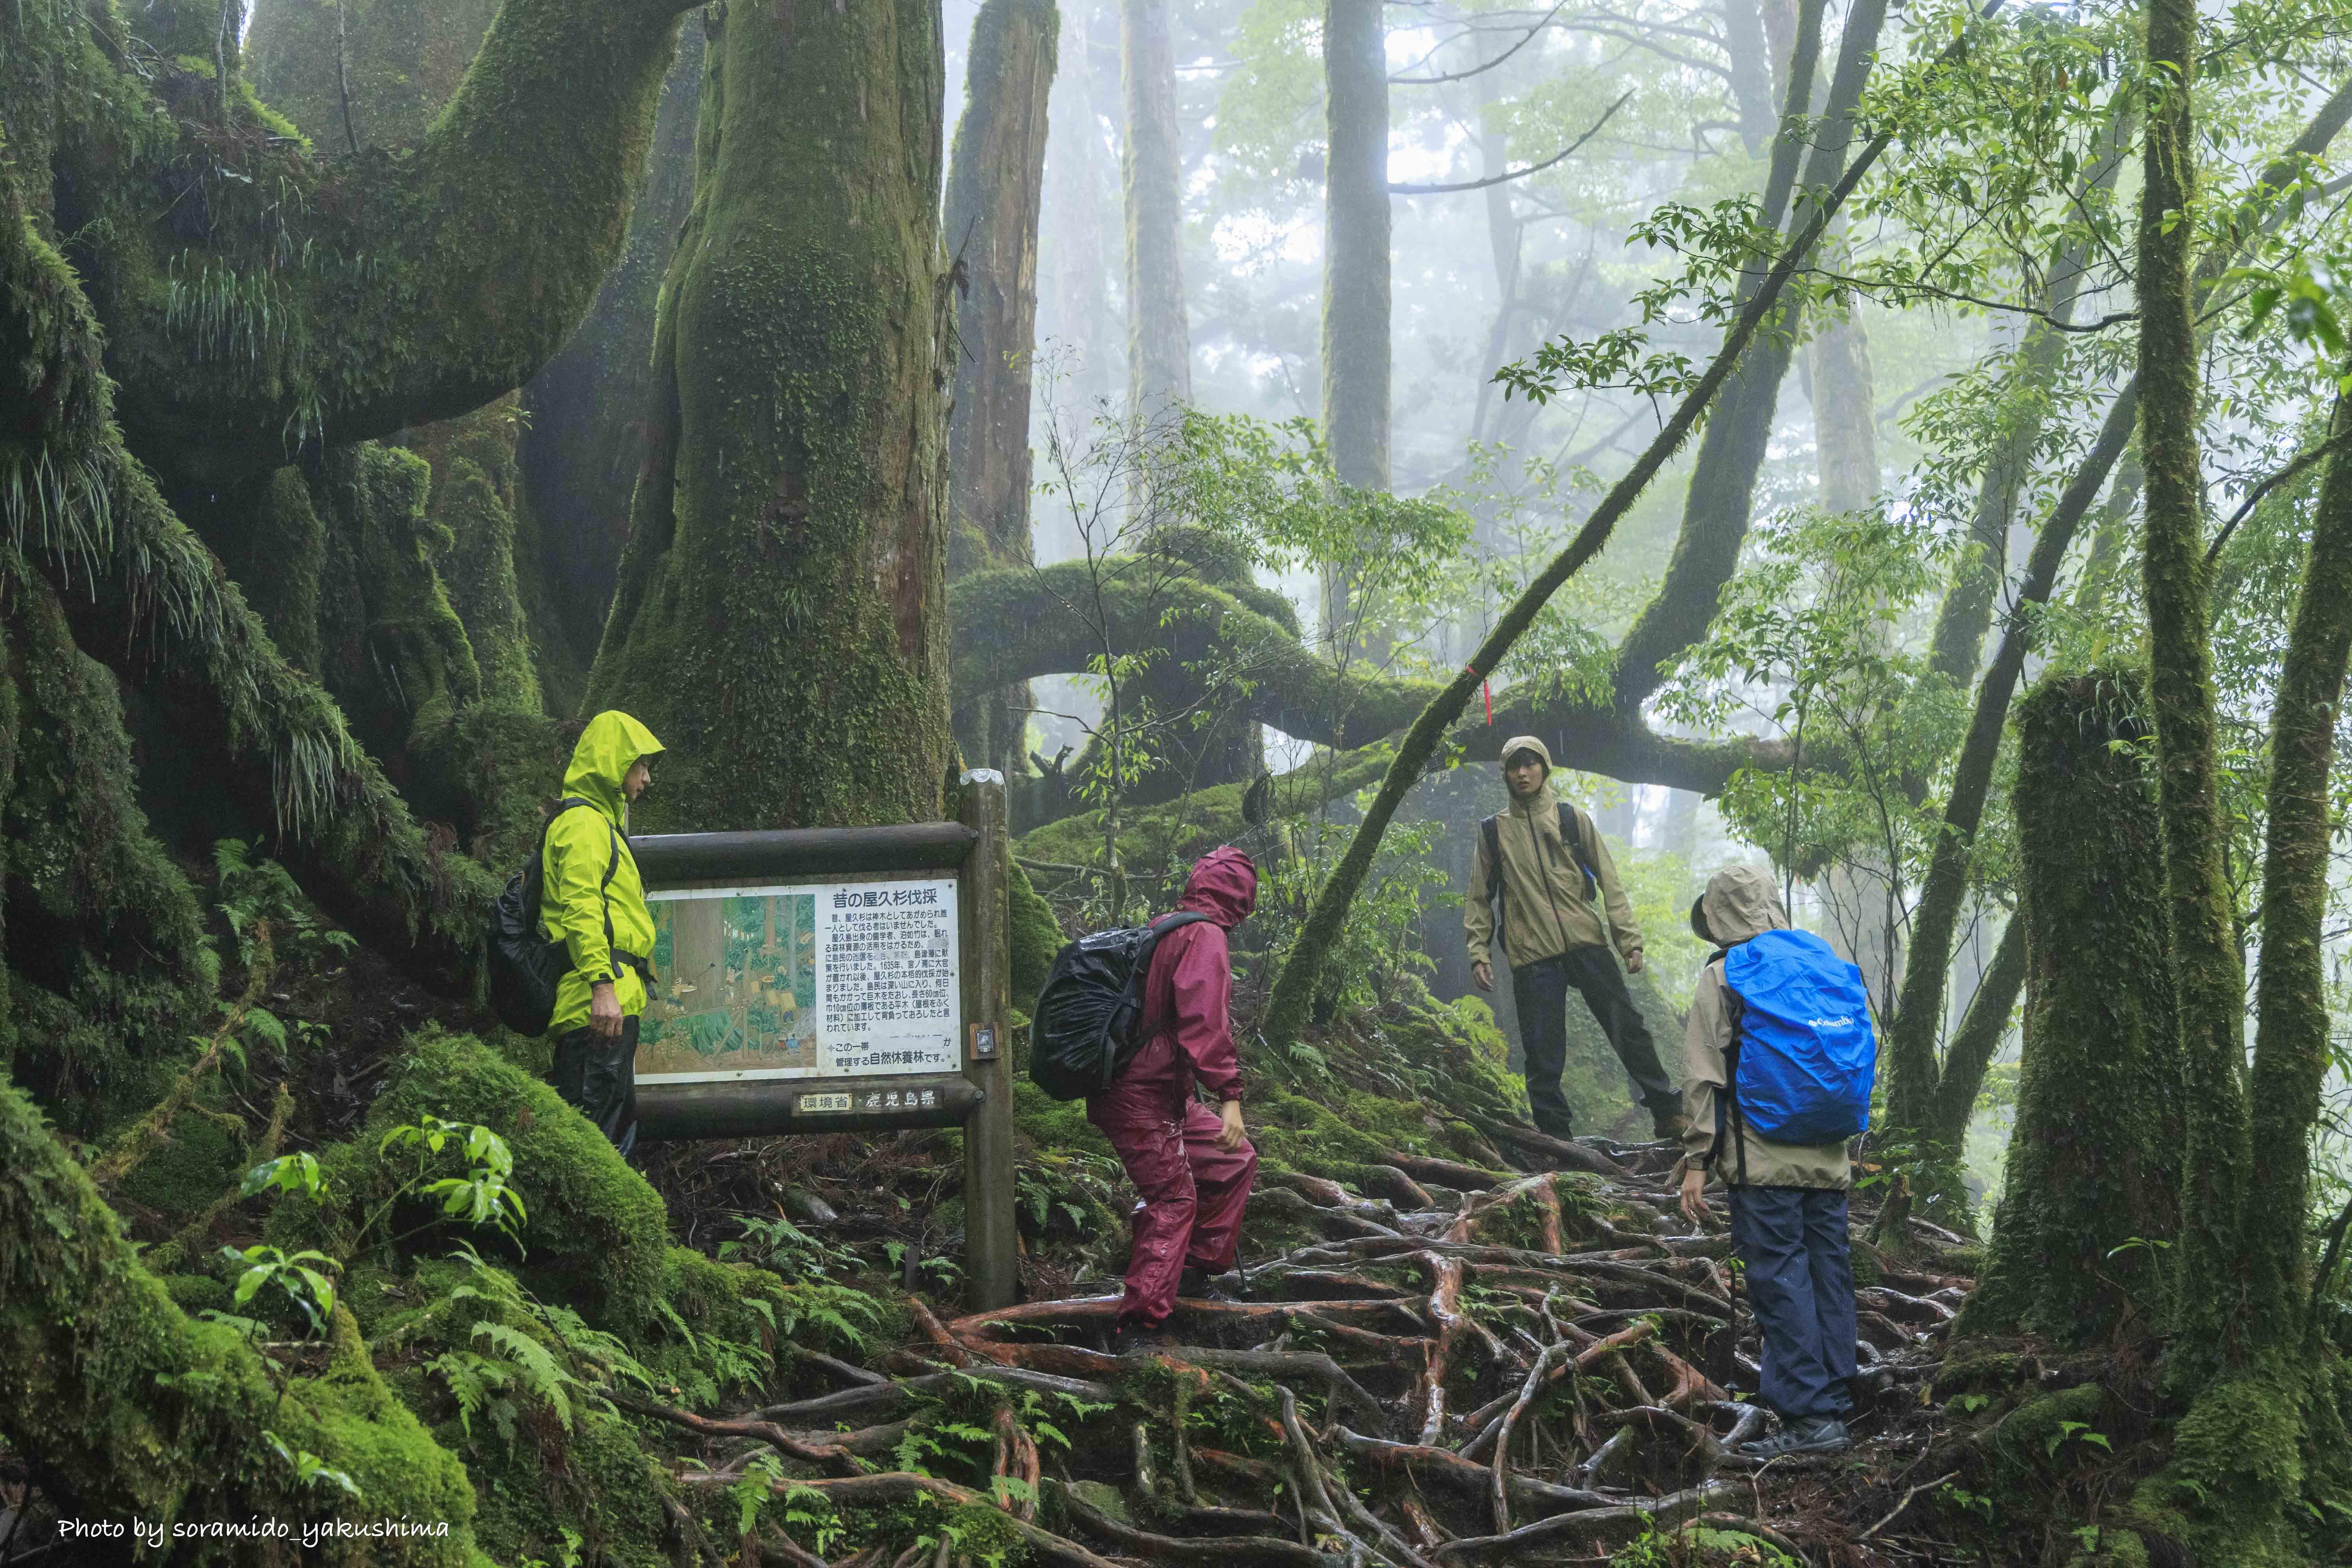
[[[964,1284],[1014,1300],[1004,776],[953,823],[630,842],[661,985],[640,1138],[964,1128]]]

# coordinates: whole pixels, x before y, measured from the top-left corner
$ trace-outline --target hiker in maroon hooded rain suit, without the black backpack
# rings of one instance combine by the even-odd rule
[[[1178,1295],[1200,1295],[1235,1262],[1258,1152],[1242,1131],[1242,1060],[1232,1051],[1232,957],[1225,933],[1258,903],[1258,867],[1240,849],[1214,849],[1192,867],[1178,910],[1209,919],[1176,926],[1152,950],[1143,983],[1143,1048],[1098,1095],[1087,1121],[1103,1131],[1143,1201],[1131,1215],[1127,1300],[1112,1349],[1164,1342]],[[1218,1098],[1211,1112],[1192,1095]]]

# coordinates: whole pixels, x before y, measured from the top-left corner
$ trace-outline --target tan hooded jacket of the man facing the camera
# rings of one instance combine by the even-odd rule
[[[1503,959],[1519,969],[1538,959],[1559,957],[1573,947],[1606,947],[1616,938],[1618,957],[1642,952],[1642,926],[1632,917],[1625,889],[1618,884],[1616,860],[1609,858],[1609,842],[1590,816],[1578,813],[1585,825],[1585,858],[1592,863],[1592,879],[1599,882],[1602,907],[1585,898],[1585,875],[1576,867],[1576,856],[1559,842],[1559,795],[1552,792],[1552,752],[1536,736],[1512,736],[1503,743],[1503,755],[1536,752],[1543,757],[1543,788],[1534,797],[1510,797],[1510,809],[1496,823],[1496,844],[1503,851]],[[1606,917],[1604,917],[1606,910]],[[1470,896],[1463,898],[1463,936],[1470,940],[1470,961],[1489,964],[1494,943],[1494,905],[1486,903],[1486,835],[1477,835],[1470,856]]]

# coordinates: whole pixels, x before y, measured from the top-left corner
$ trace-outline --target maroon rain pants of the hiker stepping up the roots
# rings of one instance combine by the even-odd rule
[[[1143,1194],[1129,1215],[1134,1251],[1120,1321],[1157,1328],[1176,1309],[1185,1265],[1209,1274],[1232,1267],[1258,1150],[1247,1140],[1237,1150],[1216,1147],[1223,1121],[1200,1100],[1185,1098],[1181,1119],[1169,1119],[1167,1100],[1122,1091],[1129,1086],[1091,1098],[1087,1121],[1120,1152],[1127,1180]]]

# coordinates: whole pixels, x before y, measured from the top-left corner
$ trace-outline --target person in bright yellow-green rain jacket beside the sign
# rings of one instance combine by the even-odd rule
[[[654,978],[654,912],[628,853],[628,802],[654,783],[661,750],[626,712],[588,719],[539,849],[539,924],[572,957],[548,1020],[555,1093],[623,1157],[637,1145],[637,1018]]]

